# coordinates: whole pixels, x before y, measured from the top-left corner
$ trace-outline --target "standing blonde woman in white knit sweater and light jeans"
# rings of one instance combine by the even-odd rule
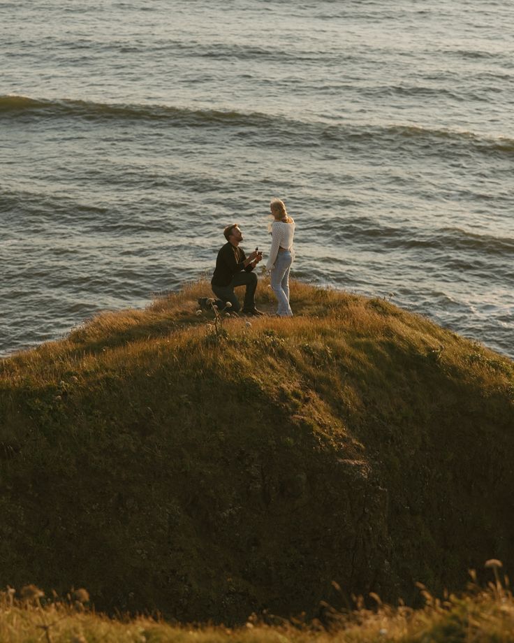
[[[274,220],[271,224],[271,250],[266,268],[271,270],[271,287],[279,301],[277,315],[291,317],[293,312],[289,305],[289,270],[294,259],[295,222],[279,198],[272,200],[270,210]]]

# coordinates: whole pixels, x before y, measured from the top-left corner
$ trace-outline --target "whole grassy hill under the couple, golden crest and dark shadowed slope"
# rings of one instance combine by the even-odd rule
[[[237,623],[514,568],[512,361],[298,282],[218,338],[207,294],[0,362],[0,584]]]

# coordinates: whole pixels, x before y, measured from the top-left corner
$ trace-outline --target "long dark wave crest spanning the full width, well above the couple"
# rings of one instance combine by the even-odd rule
[[[514,138],[487,137],[471,131],[434,129],[407,124],[331,124],[315,120],[274,115],[263,112],[242,110],[192,109],[155,104],[98,103],[72,99],[33,99],[28,96],[0,96],[0,118],[33,116],[35,118],[77,118],[85,121],[117,120],[121,122],[166,122],[177,127],[237,127],[241,136],[258,130],[259,133],[292,136],[295,145],[318,145],[334,141],[337,143],[379,141],[394,150],[413,142],[429,153],[438,147],[458,146],[483,154],[512,154]],[[424,143],[425,145],[419,145]]]

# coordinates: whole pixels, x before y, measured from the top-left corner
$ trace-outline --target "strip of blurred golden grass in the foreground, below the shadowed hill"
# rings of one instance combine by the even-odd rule
[[[494,561],[497,562],[497,561]],[[362,606],[338,612],[330,608],[323,623],[302,619],[268,619],[259,622],[251,617],[239,628],[191,626],[166,623],[140,616],[135,619],[110,619],[85,608],[80,600],[53,600],[41,607],[42,592],[30,586],[31,598],[13,599],[8,591],[0,595],[0,640],[28,643],[330,643],[330,642],[513,642],[514,599],[495,571],[495,581],[486,588],[474,582],[466,595],[434,598],[425,586],[420,592],[425,606],[412,609],[404,605],[383,605],[378,596],[374,609]],[[472,578],[476,578],[471,572]],[[84,590],[82,590],[84,592]],[[36,600],[37,598],[37,600]],[[80,596],[78,596],[80,598]],[[83,598],[83,596],[82,596]]]

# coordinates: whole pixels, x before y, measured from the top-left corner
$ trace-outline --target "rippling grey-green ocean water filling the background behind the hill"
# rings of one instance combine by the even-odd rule
[[[210,275],[295,277],[514,357],[510,0],[0,2],[0,353]],[[206,293],[208,295],[209,293]]]

